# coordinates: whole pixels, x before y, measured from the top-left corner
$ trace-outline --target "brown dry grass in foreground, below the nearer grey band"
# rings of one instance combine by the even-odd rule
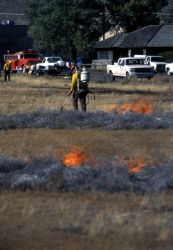
[[[2,193],[3,250],[172,249],[172,193]]]

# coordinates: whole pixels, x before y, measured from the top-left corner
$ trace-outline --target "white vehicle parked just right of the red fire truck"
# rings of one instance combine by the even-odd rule
[[[36,70],[51,70],[54,67],[64,67],[65,61],[60,56],[44,57],[41,63],[36,64]]]

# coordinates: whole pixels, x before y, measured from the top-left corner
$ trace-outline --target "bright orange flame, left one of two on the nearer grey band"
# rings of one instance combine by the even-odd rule
[[[78,148],[73,147],[64,158],[64,165],[67,167],[78,167],[87,160],[84,152]]]

